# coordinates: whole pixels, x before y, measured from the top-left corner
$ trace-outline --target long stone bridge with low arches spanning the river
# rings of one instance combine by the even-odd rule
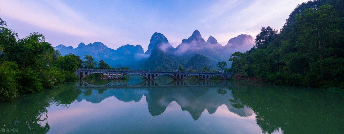
[[[221,72],[182,72],[182,71],[150,71],[150,70],[106,70],[106,69],[76,69],[75,74],[84,79],[88,75],[101,73],[107,74],[110,78],[120,80],[126,75],[139,74],[147,80],[154,80],[160,75],[170,75],[174,80],[183,80],[187,76],[194,75],[198,80],[209,80],[213,76],[219,77],[221,80],[227,80],[235,73]]]

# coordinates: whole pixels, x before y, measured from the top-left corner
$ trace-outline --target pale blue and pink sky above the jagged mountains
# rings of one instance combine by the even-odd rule
[[[147,50],[154,32],[173,47],[197,29],[225,46],[240,34],[253,38],[261,27],[280,29],[297,4],[308,0],[0,0],[0,18],[23,38],[43,34],[52,46],[80,42],[126,44]]]

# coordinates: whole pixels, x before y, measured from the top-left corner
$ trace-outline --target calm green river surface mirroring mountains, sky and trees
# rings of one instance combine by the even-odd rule
[[[343,100],[338,92],[236,81],[79,81],[0,104],[0,129],[334,134],[344,133]]]

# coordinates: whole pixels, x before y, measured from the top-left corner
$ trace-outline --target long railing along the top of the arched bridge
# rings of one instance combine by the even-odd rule
[[[188,72],[188,71],[154,71],[154,70],[112,70],[112,69],[76,69],[76,71],[116,71],[116,72],[151,72],[151,73],[215,73],[215,74],[235,74],[234,72]]]

